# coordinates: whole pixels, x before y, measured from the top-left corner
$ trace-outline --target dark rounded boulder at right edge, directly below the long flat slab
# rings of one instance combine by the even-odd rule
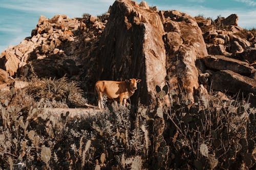
[[[241,76],[240,74],[231,70],[221,70],[215,72],[211,77],[212,89],[221,90],[237,94],[244,94],[244,96],[252,93],[256,95],[256,80]]]

